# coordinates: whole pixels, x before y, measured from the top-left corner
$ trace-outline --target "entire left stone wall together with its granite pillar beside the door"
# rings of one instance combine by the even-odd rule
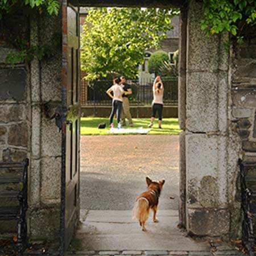
[[[52,47],[51,54],[41,61],[7,65],[8,53],[18,50],[1,40],[0,161],[30,159],[28,236],[56,240],[60,226],[61,133],[55,119],[46,118],[44,104],[52,115],[61,101],[61,13],[9,19],[6,23],[11,35],[26,39],[31,46]],[[16,232],[16,224],[0,222],[0,230]]]

